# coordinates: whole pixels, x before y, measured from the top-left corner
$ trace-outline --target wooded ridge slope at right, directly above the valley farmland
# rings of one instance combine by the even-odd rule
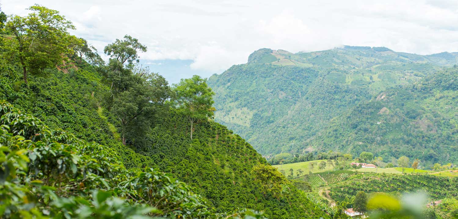
[[[458,69],[450,68],[358,104],[307,143],[353,154],[373,151],[387,162],[392,156],[419,158],[425,166],[458,162],[457,106]]]

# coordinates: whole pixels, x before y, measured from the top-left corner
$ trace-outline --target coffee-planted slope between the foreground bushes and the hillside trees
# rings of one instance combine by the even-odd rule
[[[95,141],[116,151],[128,169],[154,167],[170,173],[195,187],[193,190],[205,198],[211,212],[250,208],[265,211],[269,218],[327,217],[315,210],[315,204],[294,185],[278,197],[264,192],[254,183],[251,171],[266,160],[223,125],[211,120],[199,123],[191,141],[188,120],[170,108],[155,119],[154,127],[138,141],[141,143],[124,146],[119,139],[118,121],[102,104],[109,87],[95,67],[81,64],[71,73],[47,69],[46,77],[31,75],[28,87],[11,67],[1,67],[5,71],[0,99],[38,117],[49,127],[62,128],[86,142]]]

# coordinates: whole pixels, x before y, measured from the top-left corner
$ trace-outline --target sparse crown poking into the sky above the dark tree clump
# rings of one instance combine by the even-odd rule
[[[147,47],[129,35],[125,35],[123,40],[116,39],[114,43],[108,44],[104,48],[105,54],[122,64],[127,62],[129,65],[139,62],[138,51],[146,52]]]

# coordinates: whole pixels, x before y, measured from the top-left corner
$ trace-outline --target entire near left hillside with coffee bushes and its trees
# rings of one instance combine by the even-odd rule
[[[2,29],[0,217],[328,218],[211,119],[204,78],[170,87],[129,35],[105,63],[57,11],[30,9]]]

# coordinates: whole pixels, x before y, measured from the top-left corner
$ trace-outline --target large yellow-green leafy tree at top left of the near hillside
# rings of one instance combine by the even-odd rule
[[[14,37],[3,38],[8,42],[11,57],[16,57],[22,66],[23,79],[27,84],[27,73],[41,73],[64,60],[64,54],[72,51],[76,41],[68,30],[75,29],[57,10],[41,5],[29,8],[28,16],[11,16],[6,22],[6,31]],[[15,59],[16,59],[15,58]]]

